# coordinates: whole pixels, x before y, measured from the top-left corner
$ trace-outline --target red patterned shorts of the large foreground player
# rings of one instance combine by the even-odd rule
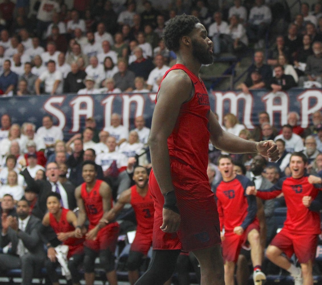
[[[155,206],[153,248],[194,251],[220,244],[218,211],[208,179],[176,159],[170,159],[170,166],[181,215],[180,228],[178,234],[160,230],[164,197],[152,171],[149,188]]]

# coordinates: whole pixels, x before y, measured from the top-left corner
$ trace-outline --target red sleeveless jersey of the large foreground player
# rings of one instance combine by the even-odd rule
[[[182,104],[175,127],[168,138],[169,155],[199,170],[206,180],[208,166],[209,97],[201,79],[182,64],[175,64],[166,71],[182,69],[194,84],[194,97]]]

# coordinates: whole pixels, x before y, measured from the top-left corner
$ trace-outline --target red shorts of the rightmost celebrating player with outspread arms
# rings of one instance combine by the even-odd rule
[[[289,258],[295,253],[299,263],[315,260],[317,252],[317,234],[294,234],[282,229],[271,241]]]

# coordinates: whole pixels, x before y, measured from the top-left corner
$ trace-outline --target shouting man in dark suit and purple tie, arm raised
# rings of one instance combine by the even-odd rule
[[[47,194],[52,192],[59,192],[62,196],[62,206],[64,208],[74,210],[76,208],[76,200],[74,196],[75,186],[71,183],[59,182],[59,169],[56,162],[50,162],[46,166],[47,180],[34,180],[27,169],[24,169],[21,174],[29,188],[33,189],[38,194],[38,200],[33,208],[33,214],[42,219],[47,212],[46,198]]]

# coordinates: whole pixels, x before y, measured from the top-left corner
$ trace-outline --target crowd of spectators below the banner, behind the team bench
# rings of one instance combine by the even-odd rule
[[[280,130],[271,125],[268,113],[263,111],[258,116],[259,125],[253,130],[248,130],[238,122],[235,115],[225,114],[223,128],[244,139],[257,141],[273,139],[276,142],[280,159],[277,162],[270,162],[261,157],[263,170],[260,175],[272,183],[278,177],[289,176],[290,155],[294,151],[300,151],[308,157],[306,172],[322,176],[321,111],[312,114],[312,124],[306,129],[298,125],[299,115],[296,112],[289,113],[287,124]],[[43,117],[43,126],[36,130],[35,126],[28,122],[21,127],[18,124],[11,124],[10,116],[4,114],[1,117],[0,131],[0,149],[3,158],[0,171],[2,213],[12,215],[10,211],[15,211],[15,204],[25,198],[30,212],[42,219],[47,212],[46,195],[44,195],[47,192],[43,192],[41,188],[43,186],[40,186],[45,182],[38,183],[38,180],[46,181],[48,184],[46,187],[50,190],[52,187],[58,187],[63,207],[74,209],[76,204],[73,194],[75,188],[84,182],[82,162],[85,160],[90,160],[96,165],[97,178],[109,184],[113,200],[117,201],[119,195],[133,184],[131,173],[136,165],[151,168],[147,151],[150,129],[145,126],[143,116],[135,118],[136,128],[131,131],[121,123],[122,118],[114,113],[111,115],[111,126],[99,130],[96,128],[95,120],[88,118],[82,133],[74,135],[65,142],[62,130],[53,125],[49,116]],[[208,174],[211,185],[215,185],[221,179],[216,165],[217,158],[221,154],[223,152],[210,144]],[[244,169],[244,172],[251,172],[258,160],[252,153],[228,155],[232,157],[235,166]],[[46,191],[49,191],[48,189]],[[8,199],[12,200],[10,209],[5,208]],[[281,199],[278,203],[285,205]],[[271,209],[270,216],[266,218],[272,218],[272,213]],[[4,220],[2,222],[4,223]],[[263,239],[269,242],[276,231],[273,222],[270,227],[269,224],[267,226],[270,236]],[[0,254],[0,262],[1,258]]]

